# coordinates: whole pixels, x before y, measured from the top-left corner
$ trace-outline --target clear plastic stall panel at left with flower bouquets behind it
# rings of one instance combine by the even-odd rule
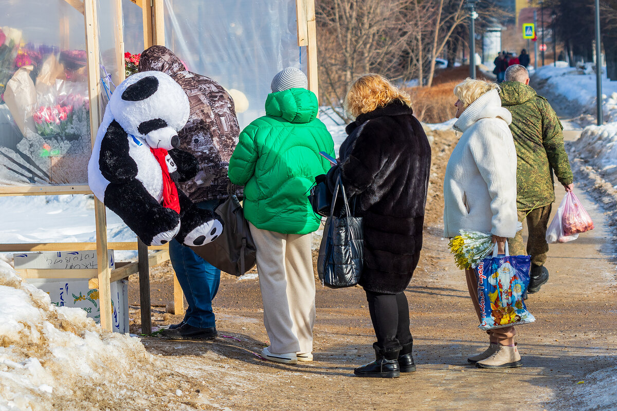
[[[64,0],[0,0],[0,184],[87,184],[84,17]]]

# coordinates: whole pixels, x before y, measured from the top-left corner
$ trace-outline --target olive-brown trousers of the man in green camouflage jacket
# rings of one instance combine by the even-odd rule
[[[552,204],[544,207],[534,208],[534,210],[517,210],[518,221],[524,224],[527,220],[529,238],[527,239],[527,252],[523,242],[523,230],[516,233],[514,238],[508,240],[510,255],[530,255],[531,263],[536,266],[543,266],[546,262],[546,253],[549,252],[549,245],[546,242],[546,229],[549,224],[550,210]]]

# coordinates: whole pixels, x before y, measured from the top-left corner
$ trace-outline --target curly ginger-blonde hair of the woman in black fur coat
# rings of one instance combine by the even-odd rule
[[[345,97],[344,108],[355,118],[360,114],[370,113],[377,107],[384,107],[394,100],[412,107],[409,94],[399,90],[384,76],[370,73],[351,83]]]

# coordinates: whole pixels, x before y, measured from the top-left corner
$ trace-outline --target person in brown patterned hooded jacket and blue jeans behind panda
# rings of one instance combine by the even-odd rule
[[[228,196],[227,170],[240,134],[233,100],[213,79],[186,70],[167,47],[152,46],[141,54],[139,71],[149,70],[170,75],[188,96],[191,112],[178,137],[180,149],[199,161],[199,172],[180,188],[198,207],[213,211]],[[217,295],[221,271],[176,240],[169,242],[169,258],[189,307],[182,322],[171,325],[162,335],[175,340],[215,338],[212,299]]]

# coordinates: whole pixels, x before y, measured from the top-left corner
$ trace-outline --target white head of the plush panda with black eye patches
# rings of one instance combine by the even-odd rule
[[[178,131],[189,117],[189,100],[182,87],[161,71],[127,78],[115,89],[109,108],[128,134],[141,137],[153,149],[178,147]]]

